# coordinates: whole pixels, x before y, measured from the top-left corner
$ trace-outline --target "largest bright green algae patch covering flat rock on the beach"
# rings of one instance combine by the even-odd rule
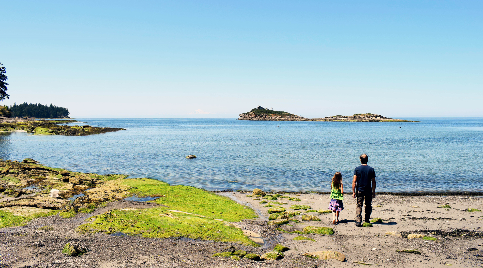
[[[120,183],[130,186],[127,191],[139,197],[160,196],[150,202],[162,204],[163,207],[112,210],[91,217],[93,221],[79,226],[79,231],[108,234],[122,232],[150,238],[187,237],[259,246],[245,236],[241,229],[225,225],[225,222],[256,217],[253,210],[228,197],[195,187],[171,186],[168,183],[146,178],[124,179],[120,180]],[[169,211],[175,215],[175,219],[164,216],[166,206],[170,207]]]

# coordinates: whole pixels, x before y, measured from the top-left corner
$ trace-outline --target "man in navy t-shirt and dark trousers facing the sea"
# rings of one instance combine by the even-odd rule
[[[372,213],[372,198],[376,197],[376,172],[367,165],[369,157],[366,154],[359,156],[359,159],[362,165],[355,168],[354,181],[352,181],[352,197],[357,197],[357,206],[355,208],[355,226],[357,227],[362,226],[361,214],[364,199],[366,199],[364,222],[368,223],[370,213]]]

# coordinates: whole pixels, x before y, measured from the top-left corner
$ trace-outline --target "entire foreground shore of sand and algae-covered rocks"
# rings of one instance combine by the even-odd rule
[[[329,196],[321,193],[214,193],[30,158],[1,161],[0,184],[0,267],[423,268],[483,261],[480,197],[381,194],[371,225],[355,227],[350,196],[334,226]],[[59,197],[50,197],[51,189]]]

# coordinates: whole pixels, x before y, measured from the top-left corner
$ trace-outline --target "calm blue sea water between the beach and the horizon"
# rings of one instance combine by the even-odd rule
[[[0,134],[0,158],[30,157],[51,167],[209,190],[330,191],[332,175],[340,171],[350,192],[358,156],[366,153],[376,170],[377,191],[483,191],[483,119],[78,120],[128,129],[84,137]],[[198,158],[185,158],[191,154]]]

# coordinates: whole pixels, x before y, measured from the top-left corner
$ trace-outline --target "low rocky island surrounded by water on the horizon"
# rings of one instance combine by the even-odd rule
[[[264,120],[264,121],[336,121],[336,122],[419,122],[402,119],[394,119],[384,117],[375,113],[356,113],[354,115],[334,115],[326,116],[324,118],[305,118],[293,113],[287,113],[282,111],[273,111],[270,109],[258,106],[252,109],[248,113],[241,113],[238,120]]]

